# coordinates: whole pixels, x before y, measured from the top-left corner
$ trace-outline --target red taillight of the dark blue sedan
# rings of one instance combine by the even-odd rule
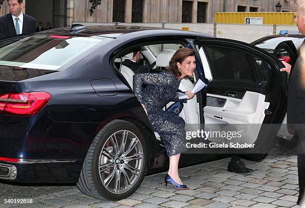
[[[33,116],[49,102],[50,98],[51,95],[47,92],[5,93],[0,95],[0,114]]]

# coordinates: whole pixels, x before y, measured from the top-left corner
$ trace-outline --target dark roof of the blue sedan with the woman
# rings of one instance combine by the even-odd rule
[[[56,29],[50,29],[50,30],[45,30],[41,31],[37,34],[43,34],[43,33],[56,33],[56,34],[77,34],[77,35],[107,35],[107,34],[127,34],[131,32],[138,32],[138,31],[152,31],[153,30],[158,30],[158,33],[168,33],[169,31],[179,31],[182,35],[200,35],[200,36],[206,36],[206,37],[213,37],[208,34],[200,33],[200,32],[190,32],[190,31],[183,31],[183,30],[177,30],[177,29],[170,29],[170,28],[162,28],[162,27],[148,27],[148,26],[132,26],[132,25],[91,25],[91,26],[86,26],[85,29],[73,33],[70,32],[70,27],[62,27],[62,28],[56,28]],[[156,31],[155,31],[156,32]],[[116,36],[113,36],[116,37]]]

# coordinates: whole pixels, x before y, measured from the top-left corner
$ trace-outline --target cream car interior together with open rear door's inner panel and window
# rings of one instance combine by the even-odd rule
[[[164,71],[171,57],[179,47],[183,47],[182,44],[164,43],[142,45],[140,63],[148,69],[149,73],[159,73]],[[133,75],[135,73],[132,69],[122,63],[125,59],[133,58],[132,49],[133,48],[123,49],[114,59],[114,65],[125,77],[131,89],[133,89]],[[239,64],[233,64],[232,62],[232,60],[240,59],[243,53],[214,46],[198,47],[197,50],[203,64],[205,78],[209,82],[213,81],[213,79],[245,80],[253,82],[254,75],[251,74],[251,70],[242,67],[249,64],[248,62],[239,62]],[[229,55],[229,57],[226,57],[226,55]],[[208,58],[210,59],[209,62]],[[231,62],[232,64],[228,64]],[[259,57],[253,56],[253,61],[251,63],[254,67],[257,67],[256,70],[259,72],[261,80],[269,80],[270,67],[265,61]],[[226,67],[224,68],[224,66]],[[192,77],[187,77],[181,80],[179,90],[183,92],[192,90],[197,79],[195,69]],[[210,83],[210,87],[213,88],[213,84],[211,85]],[[197,131],[200,129],[201,123],[216,125],[230,124],[235,125],[236,127],[240,124],[262,124],[265,118],[264,111],[268,109],[270,104],[265,102],[265,95],[251,90],[247,90],[246,92],[229,90],[223,95],[208,92],[206,96],[206,104],[204,103],[203,105],[204,112],[201,112],[201,114],[199,103],[201,99],[199,100],[197,96],[188,100],[188,102],[184,104],[183,110],[179,116],[182,117],[186,123],[186,131]],[[171,104],[172,102],[168,103],[164,109],[169,107]],[[200,121],[200,115],[204,116],[204,122]],[[248,126],[250,128],[250,125]],[[245,127],[245,125],[243,127]],[[253,144],[258,138],[259,132],[260,125],[257,125],[256,129],[249,129],[247,135],[244,135],[246,136],[244,142]],[[160,140],[157,133],[155,133],[155,136]],[[223,138],[220,140],[218,138],[208,138],[208,140],[212,142],[224,142]]]

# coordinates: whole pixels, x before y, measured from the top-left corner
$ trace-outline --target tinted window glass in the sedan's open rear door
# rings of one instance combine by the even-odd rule
[[[223,47],[205,47],[214,79],[254,80],[244,52]]]

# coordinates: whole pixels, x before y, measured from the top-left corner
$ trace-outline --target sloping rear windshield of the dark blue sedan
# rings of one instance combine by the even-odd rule
[[[33,35],[0,48],[0,65],[57,70],[108,37]]]

